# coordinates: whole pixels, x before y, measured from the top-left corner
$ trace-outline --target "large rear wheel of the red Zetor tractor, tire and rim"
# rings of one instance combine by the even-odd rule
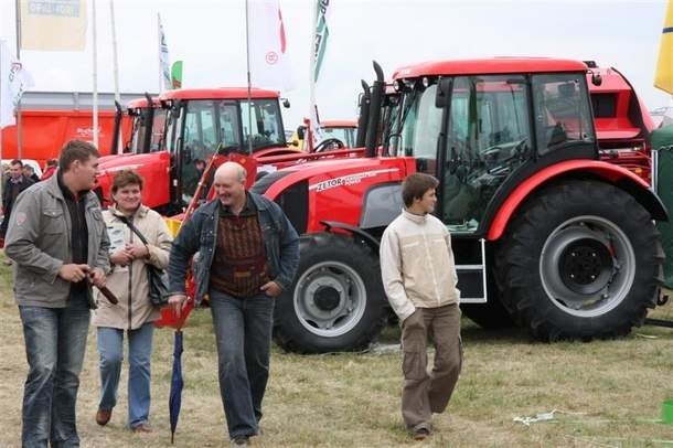
[[[613,185],[549,185],[526,201],[505,235],[495,257],[501,299],[537,339],[626,335],[655,306],[659,233]]]

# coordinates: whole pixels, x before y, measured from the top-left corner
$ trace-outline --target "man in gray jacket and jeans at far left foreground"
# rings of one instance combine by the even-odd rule
[[[23,391],[23,447],[77,447],[75,407],[92,287],[105,286],[109,239],[90,190],[98,151],[72,140],[56,175],[19,195],[4,252],[14,260],[14,300],[23,323],[29,374]]]

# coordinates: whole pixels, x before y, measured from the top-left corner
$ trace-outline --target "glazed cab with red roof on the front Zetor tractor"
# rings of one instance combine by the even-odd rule
[[[494,60],[492,75],[470,61],[394,75],[384,148],[439,179],[437,215],[451,232],[485,233],[484,218],[532,172],[598,158],[586,67],[544,61],[540,73],[506,73],[509,60]]]

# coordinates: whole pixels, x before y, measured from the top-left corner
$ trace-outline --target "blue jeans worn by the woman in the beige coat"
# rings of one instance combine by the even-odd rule
[[[98,408],[110,410],[117,404],[117,390],[124,360],[124,332],[117,328],[98,327],[98,353],[100,354],[100,404]],[[128,330],[128,426],[135,428],[149,423],[150,415],[150,362],[152,358],[153,322],[136,330]]]

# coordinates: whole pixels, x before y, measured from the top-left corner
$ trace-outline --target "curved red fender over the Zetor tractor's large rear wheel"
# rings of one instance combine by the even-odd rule
[[[652,216],[653,220],[667,221],[666,207],[648,183],[633,172],[599,160],[568,160],[547,167],[523,181],[502,203],[491,221],[487,239],[495,241],[502,236],[519,206],[543,184],[567,174],[588,173],[603,179],[631,194]]]

